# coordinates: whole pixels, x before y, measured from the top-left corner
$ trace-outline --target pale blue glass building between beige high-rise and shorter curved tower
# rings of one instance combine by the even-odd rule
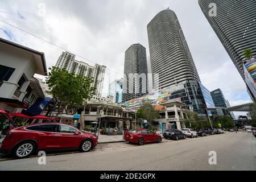
[[[109,84],[108,96],[113,97],[114,103],[122,102],[123,79],[118,79]]]

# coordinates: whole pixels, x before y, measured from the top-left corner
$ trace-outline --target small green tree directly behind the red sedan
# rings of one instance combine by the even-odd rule
[[[152,123],[154,119],[159,117],[159,113],[151,105],[151,102],[145,102],[141,108],[137,110],[137,117],[146,119],[148,123]]]

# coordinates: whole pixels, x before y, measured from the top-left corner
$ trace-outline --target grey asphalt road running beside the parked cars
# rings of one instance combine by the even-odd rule
[[[209,151],[216,151],[216,165],[208,163]],[[256,138],[227,132],[144,146],[112,143],[91,152],[47,156],[46,165],[39,165],[38,157],[6,160],[0,170],[256,170]]]

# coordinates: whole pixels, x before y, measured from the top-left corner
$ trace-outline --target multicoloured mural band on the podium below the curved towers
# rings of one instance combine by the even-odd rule
[[[152,106],[157,106],[170,98],[170,92],[167,93],[150,93],[145,96],[134,98],[133,100],[123,102],[127,110],[136,111],[142,106],[144,102],[151,102]]]

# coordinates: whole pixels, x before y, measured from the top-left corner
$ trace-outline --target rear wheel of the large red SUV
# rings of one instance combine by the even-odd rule
[[[35,143],[31,141],[19,143],[14,149],[14,156],[22,159],[32,155],[36,150]]]

